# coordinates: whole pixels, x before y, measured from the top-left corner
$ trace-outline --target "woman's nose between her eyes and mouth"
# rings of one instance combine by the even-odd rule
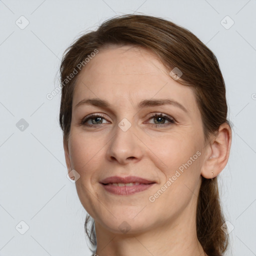
[[[132,125],[126,130],[121,124],[116,125],[114,135],[107,144],[107,158],[120,164],[139,161],[143,155],[143,143]]]

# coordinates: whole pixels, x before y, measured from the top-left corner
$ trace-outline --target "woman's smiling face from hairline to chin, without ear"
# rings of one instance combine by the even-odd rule
[[[127,45],[99,50],[77,78],[65,158],[80,175],[76,190],[96,228],[132,233],[195,217],[205,144],[191,88],[150,51]],[[92,98],[107,105],[78,104]],[[135,184],[100,183],[110,176],[154,183],[137,192]]]

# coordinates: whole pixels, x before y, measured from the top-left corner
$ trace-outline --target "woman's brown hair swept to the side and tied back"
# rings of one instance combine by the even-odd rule
[[[171,21],[149,15],[125,14],[108,19],[97,30],[83,34],[63,55],[60,78],[62,84],[65,81],[65,85],[61,89],[59,124],[64,142],[69,138],[77,75],[68,82],[66,77],[95,49],[100,52],[100,49],[109,45],[124,44],[149,49],[159,57],[166,70],[171,71],[177,67],[182,71],[182,79],[177,82],[190,86],[195,93],[205,141],[210,134],[217,132],[222,123],[226,122],[230,126],[227,120],[225,84],[212,51],[193,33]],[[207,255],[220,256],[227,248],[228,236],[221,229],[225,220],[219,201],[217,178],[201,178],[196,208],[197,238]],[[86,216],[85,233],[91,244],[96,246],[94,221],[88,227],[90,218]]]

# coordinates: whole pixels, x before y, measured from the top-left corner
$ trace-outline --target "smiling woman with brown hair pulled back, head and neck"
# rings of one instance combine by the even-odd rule
[[[69,46],[60,75],[65,160],[93,253],[223,255],[217,175],[231,128],[214,54],[170,21],[127,14]]]

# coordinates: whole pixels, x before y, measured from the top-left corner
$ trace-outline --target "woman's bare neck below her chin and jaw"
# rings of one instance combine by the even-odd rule
[[[194,196],[195,197],[195,196]],[[183,212],[174,220],[140,233],[124,234],[109,232],[95,221],[97,251],[107,255],[166,255],[204,256],[203,248],[196,235],[195,199],[191,199]],[[168,223],[167,223],[168,222]]]

